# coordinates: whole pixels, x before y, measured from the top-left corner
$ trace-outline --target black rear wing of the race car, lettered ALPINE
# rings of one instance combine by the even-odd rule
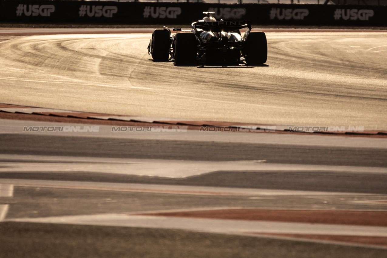
[[[250,21],[217,21],[217,22],[199,21],[199,22],[194,22],[192,24],[192,27],[194,27],[195,29],[203,29],[205,31],[231,32],[231,31],[237,31],[243,28],[251,29],[251,22]]]

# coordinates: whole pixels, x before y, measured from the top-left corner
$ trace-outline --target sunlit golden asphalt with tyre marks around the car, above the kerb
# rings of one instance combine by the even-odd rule
[[[21,34],[2,35],[11,32]],[[119,32],[7,38],[0,43],[0,101],[111,114],[387,130],[386,32],[269,31],[268,61],[260,67],[153,62],[146,49],[151,34]]]

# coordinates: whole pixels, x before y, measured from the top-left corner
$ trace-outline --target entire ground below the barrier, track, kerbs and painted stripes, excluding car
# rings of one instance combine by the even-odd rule
[[[258,67],[150,36],[0,30],[1,257],[387,257],[387,32],[267,30]]]

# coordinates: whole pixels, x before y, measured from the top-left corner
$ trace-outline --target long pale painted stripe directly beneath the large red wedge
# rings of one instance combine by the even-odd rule
[[[230,219],[195,219],[127,214],[55,216],[11,220],[41,223],[185,229],[222,234],[277,233],[387,237],[387,227]]]

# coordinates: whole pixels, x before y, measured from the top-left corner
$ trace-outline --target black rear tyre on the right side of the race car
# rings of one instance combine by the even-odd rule
[[[267,60],[267,40],[265,32],[250,32],[246,39],[245,61],[248,65],[260,65]]]

